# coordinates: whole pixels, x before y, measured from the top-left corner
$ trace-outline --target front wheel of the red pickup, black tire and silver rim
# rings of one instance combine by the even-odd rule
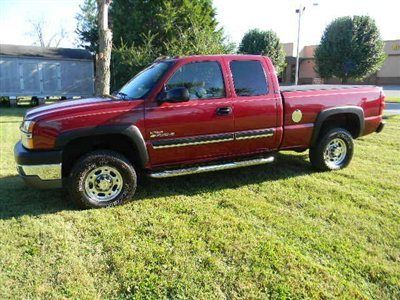
[[[99,168],[107,171],[108,167],[114,170],[109,171],[111,175],[101,174],[102,171],[100,171],[100,175],[93,173]],[[99,176],[108,177],[99,179]],[[93,177],[95,178],[91,179]],[[95,187],[93,187],[93,181]],[[102,181],[106,185],[108,184],[108,187],[104,192],[103,190],[98,192],[97,188]],[[68,178],[70,197],[81,208],[101,208],[124,204],[133,198],[136,186],[136,172],[131,163],[120,153],[109,150],[98,150],[84,155],[75,163]],[[108,192],[110,192],[109,195],[107,195]],[[101,197],[104,198],[99,200]],[[106,197],[113,198],[107,199]]]

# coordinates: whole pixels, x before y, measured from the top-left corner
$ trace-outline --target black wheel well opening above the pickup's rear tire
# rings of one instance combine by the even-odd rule
[[[353,138],[360,136],[361,124],[358,116],[352,113],[329,116],[322,123],[318,137],[332,128],[340,127],[349,131]]]

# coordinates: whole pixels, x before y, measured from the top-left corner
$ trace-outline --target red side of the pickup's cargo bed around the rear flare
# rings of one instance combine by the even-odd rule
[[[374,132],[381,121],[381,88],[372,85],[294,85],[281,87],[284,138],[281,149],[310,146],[313,127],[321,111],[336,107],[362,108],[365,129]],[[295,121],[293,114],[300,113]]]

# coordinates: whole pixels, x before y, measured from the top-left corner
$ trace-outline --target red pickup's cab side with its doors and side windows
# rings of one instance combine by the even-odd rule
[[[268,66],[261,56],[179,60],[145,105],[152,167],[276,150],[282,101]]]

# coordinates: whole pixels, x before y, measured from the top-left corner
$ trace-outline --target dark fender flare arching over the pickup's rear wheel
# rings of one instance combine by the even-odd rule
[[[359,106],[332,107],[325,109],[318,114],[317,119],[314,123],[314,130],[311,137],[311,147],[313,147],[316,144],[324,121],[333,115],[339,115],[339,114],[352,114],[357,116],[360,125],[359,126],[360,130],[354,138],[358,138],[359,136],[362,135],[362,133],[364,132],[364,110],[361,107]]]

